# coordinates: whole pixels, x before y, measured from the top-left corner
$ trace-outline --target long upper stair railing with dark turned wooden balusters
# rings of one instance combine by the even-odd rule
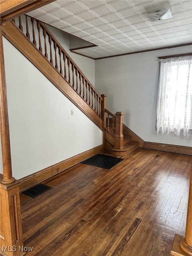
[[[23,21],[24,18],[25,22]],[[19,16],[12,21],[27,36],[36,49],[46,57],[47,61],[63,76],[66,82],[74,88],[79,96],[84,99],[99,117],[102,117],[102,97],[45,24],[27,15]],[[22,21],[25,25],[22,25]]]

